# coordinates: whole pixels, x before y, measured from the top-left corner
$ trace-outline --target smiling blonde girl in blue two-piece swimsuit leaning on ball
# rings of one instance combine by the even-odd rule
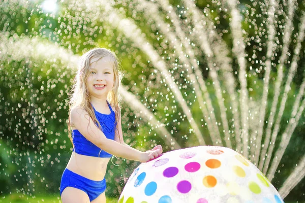
[[[116,56],[107,49],[90,50],[80,59],[67,121],[73,152],[60,183],[63,203],[106,202],[105,174],[112,155],[147,162],[162,153],[160,145],[141,152],[124,143],[121,78]]]

